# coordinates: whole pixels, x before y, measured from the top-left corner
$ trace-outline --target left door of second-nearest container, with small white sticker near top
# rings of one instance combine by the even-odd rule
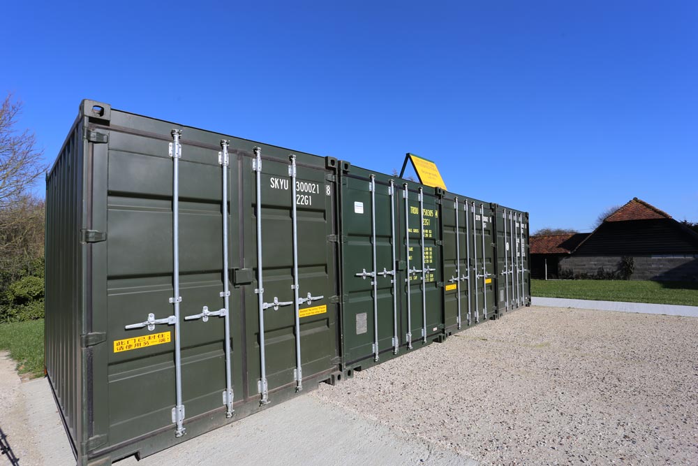
[[[404,340],[394,292],[396,189],[385,175],[360,168],[352,172],[341,186],[346,365],[378,362],[380,354],[396,354]]]

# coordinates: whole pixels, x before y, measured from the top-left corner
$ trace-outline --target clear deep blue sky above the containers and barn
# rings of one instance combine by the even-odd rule
[[[413,152],[534,231],[634,196],[698,221],[698,2],[155,3],[3,6],[0,92],[47,163],[89,98],[386,173]]]

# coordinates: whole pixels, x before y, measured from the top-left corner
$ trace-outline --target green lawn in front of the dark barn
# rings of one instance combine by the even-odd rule
[[[634,280],[531,280],[533,296],[698,306],[698,283]]]

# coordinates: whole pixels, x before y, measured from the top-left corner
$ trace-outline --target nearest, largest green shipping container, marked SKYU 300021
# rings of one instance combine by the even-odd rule
[[[334,381],[336,167],[82,102],[46,185],[46,370],[78,465]]]

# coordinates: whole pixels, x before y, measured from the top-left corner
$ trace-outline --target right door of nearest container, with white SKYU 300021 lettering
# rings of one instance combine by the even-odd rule
[[[251,155],[243,163],[245,263],[255,278],[246,287],[247,393],[265,404],[274,391],[302,388],[304,379],[336,367],[336,253],[330,241],[336,233],[335,193],[325,159],[299,154],[292,161],[290,152],[272,146]]]

